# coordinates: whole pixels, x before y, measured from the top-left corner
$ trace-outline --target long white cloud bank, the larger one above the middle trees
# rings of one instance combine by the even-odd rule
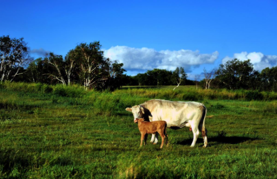
[[[104,50],[104,55],[111,60],[123,63],[123,68],[128,71],[145,71],[154,68],[175,70],[176,67],[184,67],[185,70],[190,71],[191,67],[212,64],[217,59],[218,52],[200,54],[199,51],[183,49],[178,51],[156,51],[150,48],[115,46]]]

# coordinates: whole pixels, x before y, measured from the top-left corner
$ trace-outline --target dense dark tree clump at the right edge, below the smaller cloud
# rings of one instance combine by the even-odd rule
[[[277,67],[254,70],[251,60],[238,59],[219,65],[212,82],[213,88],[277,91]]]

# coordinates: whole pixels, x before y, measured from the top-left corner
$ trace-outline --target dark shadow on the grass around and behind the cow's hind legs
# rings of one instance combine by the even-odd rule
[[[246,141],[254,141],[254,140],[258,140],[258,138],[251,138],[251,137],[238,137],[238,136],[232,136],[232,137],[211,137],[208,138],[208,143],[209,142],[217,142],[217,143],[221,143],[221,144],[239,144],[239,143],[243,143]],[[183,141],[179,141],[177,142],[177,144],[180,145],[191,145],[192,144],[193,139],[185,139]],[[203,140],[198,138],[196,143],[203,143]]]

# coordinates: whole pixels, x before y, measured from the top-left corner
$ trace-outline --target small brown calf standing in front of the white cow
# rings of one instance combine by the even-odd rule
[[[153,122],[146,122],[143,118],[136,118],[134,120],[135,123],[138,123],[138,130],[141,133],[140,137],[140,147],[142,146],[142,141],[144,139],[144,145],[146,144],[147,135],[148,134],[156,134],[157,132],[160,134],[162,138],[161,147],[163,146],[164,139],[167,139],[166,135],[166,122],[165,121],[153,121]]]

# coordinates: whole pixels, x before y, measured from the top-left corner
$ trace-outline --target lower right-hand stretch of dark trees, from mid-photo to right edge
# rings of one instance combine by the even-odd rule
[[[203,76],[203,80],[201,80]],[[277,67],[265,68],[261,72],[254,70],[251,61],[233,59],[219,65],[217,69],[196,75],[194,81],[187,79],[184,69],[175,71],[154,69],[134,77],[125,76],[124,85],[130,86],[163,86],[163,85],[196,85],[204,89],[253,89],[260,91],[277,91]]]

